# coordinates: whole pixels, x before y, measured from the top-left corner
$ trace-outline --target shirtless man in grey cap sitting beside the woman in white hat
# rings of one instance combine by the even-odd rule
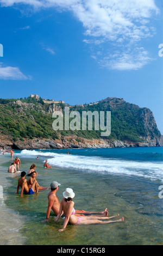
[[[46,220],[42,222],[47,222],[49,220],[49,216],[51,214],[51,209],[54,211],[54,214],[57,216],[59,214],[59,208],[60,208],[60,202],[58,197],[56,196],[56,193],[58,191],[60,184],[57,181],[53,181],[51,183],[51,191],[48,193],[48,208],[46,212]],[[76,216],[85,216],[90,214],[107,214],[107,208],[104,211],[101,212],[95,212],[95,211],[84,211],[84,210],[76,210],[75,215]]]

